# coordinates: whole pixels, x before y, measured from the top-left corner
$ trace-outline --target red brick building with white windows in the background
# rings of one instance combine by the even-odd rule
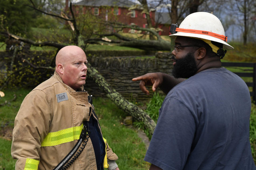
[[[82,0],[80,2],[74,3],[74,8],[82,7],[83,12],[91,11],[92,14],[99,16],[103,20],[110,22],[120,22],[127,25],[138,25],[139,27],[147,27],[147,19],[145,13],[142,14],[142,8],[135,8],[134,10],[128,10],[132,5],[136,5],[129,0]],[[66,10],[69,5],[69,0],[66,0]],[[76,10],[76,12],[78,12]],[[150,12],[150,18],[152,25],[155,25],[155,11]],[[166,20],[159,17],[158,21],[164,22]],[[159,32],[159,35],[169,35],[170,24],[161,23],[157,24],[158,27],[163,29]],[[123,29],[123,32],[135,33],[135,30],[130,30],[128,28]]]

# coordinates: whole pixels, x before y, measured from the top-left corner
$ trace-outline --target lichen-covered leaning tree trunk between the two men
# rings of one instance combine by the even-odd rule
[[[99,88],[106,93],[119,108],[126,113],[129,113],[137,121],[144,122],[145,127],[149,130],[150,134],[153,134],[156,123],[144,112],[141,108],[130,103],[121,94],[115,91],[108,82],[94,69],[89,63],[87,63],[88,76],[95,81]]]

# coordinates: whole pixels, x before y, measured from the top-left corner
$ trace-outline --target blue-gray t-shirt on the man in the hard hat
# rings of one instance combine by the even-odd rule
[[[144,160],[164,170],[256,169],[250,112],[240,77],[224,67],[201,71],[167,94]]]

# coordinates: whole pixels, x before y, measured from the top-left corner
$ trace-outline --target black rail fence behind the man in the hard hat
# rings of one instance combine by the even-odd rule
[[[253,97],[253,101],[256,101],[256,63],[234,63],[234,62],[222,62],[223,67],[253,67],[253,73],[241,73],[234,72],[239,77],[252,77],[253,82],[245,82],[248,87],[253,87],[253,91],[250,95]]]

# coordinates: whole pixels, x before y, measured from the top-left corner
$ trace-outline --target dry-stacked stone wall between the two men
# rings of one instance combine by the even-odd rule
[[[131,79],[151,72],[171,74],[173,62],[170,53],[156,53],[154,57],[90,57],[90,64],[126,99],[143,100],[149,98],[139,89],[139,82]],[[90,73],[88,73],[90,74]],[[150,91],[151,87],[148,88]],[[104,96],[98,86],[87,78],[86,91],[94,96]]]

